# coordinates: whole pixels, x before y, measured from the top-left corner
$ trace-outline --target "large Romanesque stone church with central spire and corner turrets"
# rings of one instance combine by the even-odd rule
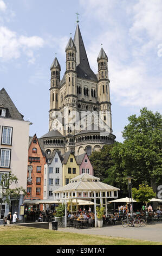
[[[41,137],[47,155],[59,150],[75,156],[99,151],[113,144],[112,112],[108,79],[108,57],[99,49],[98,74],[90,68],[77,22],[65,49],[66,71],[61,79],[57,57],[50,71],[49,132]]]

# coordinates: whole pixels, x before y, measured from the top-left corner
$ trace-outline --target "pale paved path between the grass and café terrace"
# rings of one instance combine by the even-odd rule
[[[162,242],[162,223],[147,224],[145,227],[123,228],[122,225],[108,226],[103,228],[58,228],[58,231],[89,234],[89,235],[103,235],[113,237],[125,237],[129,239],[147,240]]]

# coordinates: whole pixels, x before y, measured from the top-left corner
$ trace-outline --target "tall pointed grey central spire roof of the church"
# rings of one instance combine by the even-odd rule
[[[77,24],[75,35],[74,35],[74,44],[76,46],[76,72],[77,77],[97,81],[96,75],[90,69],[87,53],[85,50],[85,45],[83,43],[82,35],[80,32],[79,25]]]

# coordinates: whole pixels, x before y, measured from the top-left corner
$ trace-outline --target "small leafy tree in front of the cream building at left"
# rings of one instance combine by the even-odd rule
[[[6,202],[7,204],[10,203],[10,197],[12,198],[18,198],[20,196],[20,193],[22,192],[23,195],[27,194],[27,192],[24,190],[23,187],[17,187],[17,188],[10,188],[11,184],[15,182],[18,182],[18,178],[12,174],[11,172],[4,173],[2,175],[1,181],[0,181],[0,187],[1,187],[1,203],[0,203],[0,212],[2,209],[2,200]]]

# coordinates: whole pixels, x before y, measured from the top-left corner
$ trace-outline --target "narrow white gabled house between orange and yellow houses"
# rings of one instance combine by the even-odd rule
[[[53,191],[62,187],[62,156],[60,151],[47,155],[44,165],[44,196],[43,199],[53,199]]]

